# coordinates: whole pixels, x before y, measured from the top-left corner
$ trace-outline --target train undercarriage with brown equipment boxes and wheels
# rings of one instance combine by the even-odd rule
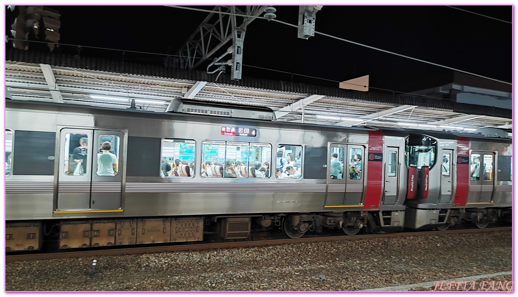
[[[485,228],[491,222],[511,222],[511,208],[456,208],[446,210],[446,230],[464,221]],[[59,249],[139,244],[202,242],[204,234],[222,239],[247,239],[252,232],[281,229],[290,238],[308,231],[317,234],[341,229],[347,235],[402,231],[405,211],[346,211],[328,213],[221,215],[99,220],[49,220],[6,223],[6,251],[40,250],[57,242]]]

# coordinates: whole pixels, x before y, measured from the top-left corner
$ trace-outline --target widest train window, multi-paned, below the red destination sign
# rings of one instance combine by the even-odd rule
[[[202,149],[203,177],[270,176],[270,144],[206,140]]]

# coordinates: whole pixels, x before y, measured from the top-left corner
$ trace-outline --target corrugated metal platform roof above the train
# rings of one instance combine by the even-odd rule
[[[301,121],[304,112],[305,122],[332,124],[333,121],[316,116],[358,118],[390,111],[401,105],[411,105],[415,107],[371,119],[369,124],[397,126],[398,121],[425,124],[466,114],[480,116],[463,121],[461,124],[466,127],[501,126],[511,122],[511,110],[502,108],[268,79],[243,77],[240,81],[234,81],[224,74],[216,80],[217,75],[196,70],[97,58],[76,59],[76,56],[70,55],[9,49],[6,52],[6,86],[13,97],[21,100],[53,101],[40,63],[51,65],[56,85],[65,103],[106,106],[108,102],[92,98],[91,95],[136,97],[148,101],[147,104],[142,104],[143,108],[164,111],[164,106],[172,98],[183,97],[197,82],[205,81],[194,99],[267,106],[277,110],[310,95],[323,95],[304,109],[294,110],[281,117],[281,121]],[[113,105],[124,106],[121,103]]]

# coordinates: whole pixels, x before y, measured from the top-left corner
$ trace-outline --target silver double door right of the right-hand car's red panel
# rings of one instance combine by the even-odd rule
[[[471,152],[467,204],[491,202],[494,190],[494,157],[495,154],[492,152]]]

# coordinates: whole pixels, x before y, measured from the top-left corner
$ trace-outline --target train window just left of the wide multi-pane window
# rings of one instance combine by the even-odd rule
[[[194,176],[196,142],[189,139],[162,139],[160,176]]]

